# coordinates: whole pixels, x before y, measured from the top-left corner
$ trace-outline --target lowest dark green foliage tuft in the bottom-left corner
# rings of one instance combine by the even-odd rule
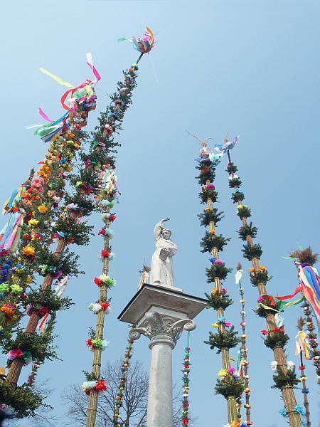
[[[14,414],[16,418],[23,418],[35,415],[43,397],[37,391],[29,389],[26,384],[12,389],[11,384],[0,381],[0,401],[16,410]]]

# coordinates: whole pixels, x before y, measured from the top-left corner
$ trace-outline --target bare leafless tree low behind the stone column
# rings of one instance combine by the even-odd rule
[[[108,363],[102,370],[102,376],[108,381],[107,391],[98,399],[97,426],[112,427],[114,404],[119,392],[119,381],[122,375],[122,361]],[[146,427],[146,406],[148,400],[149,375],[142,362],[132,362],[127,374],[127,383],[119,411],[118,423],[122,427]],[[88,396],[79,385],[74,384],[63,391],[63,404],[68,406],[66,416],[75,427],[85,426],[87,419]],[[70,421],[68,424],[70,424]],[[67,425],[67,423],[66,423]],[[188,424],[194,424],[192,420]],[[181,389],[174,387],[174,427],[181,426]]]

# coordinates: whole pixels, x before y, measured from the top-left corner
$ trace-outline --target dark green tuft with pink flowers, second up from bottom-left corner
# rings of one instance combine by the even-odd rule
[[[43,362],[45,359],[58,359],[55,347],[50,345],[53,342],[53,335],[50,332],[43,334],[25,334],[19,330],[16,339],[2,340],[2,353],[6,354],[12,349],[20,349],[22,352],[29,352],[32,359]]]

